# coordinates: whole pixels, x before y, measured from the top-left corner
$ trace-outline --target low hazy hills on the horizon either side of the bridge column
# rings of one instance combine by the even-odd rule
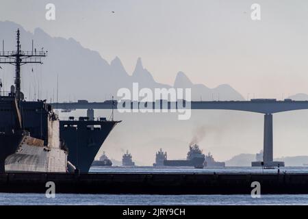
[[[303,166],[303,164],[308,164],[308,156],[280,157],[274,158],[274,160],[285,162],[285,166]],[[255,155],[242,153],[227,160],[226,166],[251,166],[251,162],[254,161]]]

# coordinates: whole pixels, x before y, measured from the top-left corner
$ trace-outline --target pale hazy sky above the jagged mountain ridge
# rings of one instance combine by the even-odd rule
[[[56,20],[45,19],[54,3]],[[261,21],[251,5],[261,5]],[[115,13],[112,13],[114,11]],[[0,21],[75,38],[132,73],[142,57],[156,81],[183,71],[213,88],[229,83],[245,98],[308,93],[308,2],[228,0],[0,0]]]

